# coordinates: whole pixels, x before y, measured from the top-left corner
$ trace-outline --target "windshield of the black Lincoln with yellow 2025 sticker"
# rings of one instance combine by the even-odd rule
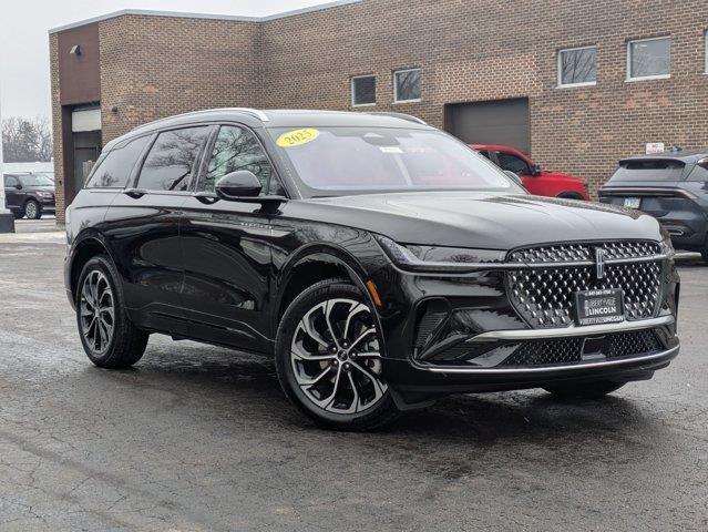
[[[455,139],[430,130],[269,130],[310,196],[431,190],[523,191]]]

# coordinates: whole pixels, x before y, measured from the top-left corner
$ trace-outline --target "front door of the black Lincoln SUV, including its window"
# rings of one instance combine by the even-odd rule
[[[285,195],[265,149],[253,130],[223,124],[213,133],[195,192],[213,193],[224,175],[253,172],[261,195]],[[266,351],[269,345],[271,247],[277,214],[259,204],[189,196],[183,205],[184,303],[191,336]]]

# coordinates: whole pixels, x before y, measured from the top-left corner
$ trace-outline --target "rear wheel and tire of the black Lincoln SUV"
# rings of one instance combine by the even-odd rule
[[[150,336],[127,318],[117,279],[113,263],[99,255],[84,265],[76,284],[79,336],[86,356],[100,368],[134,365],[145,352]]]

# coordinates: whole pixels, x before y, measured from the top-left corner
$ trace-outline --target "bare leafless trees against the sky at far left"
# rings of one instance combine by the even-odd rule
[[[8,163],[52,158],[52,130],[45,116],[11,116],[2,122],[2,149]]]

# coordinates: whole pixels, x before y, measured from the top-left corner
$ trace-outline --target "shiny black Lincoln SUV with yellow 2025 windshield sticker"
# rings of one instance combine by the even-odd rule
[[[370,429],[453,392],[595,397],[678,352],[650,216],[527,195],[411,116],[214,110],[110,142],[66,212],[89,358],[151,332],[275,356],[319,423]]]

